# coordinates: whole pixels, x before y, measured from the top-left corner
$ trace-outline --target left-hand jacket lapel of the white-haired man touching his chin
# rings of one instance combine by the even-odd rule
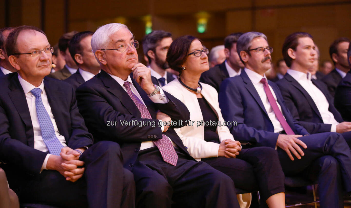
[[[107,87],[107,91],[116,96],[131,115],[141,118],[141,113],[137,105],[135,105],[133,100],[129,97],[128,93],[122,88],[121,85],[118,84],[117,81],[115,81],[110,75],[102,70],[100,72],[100,79]]]

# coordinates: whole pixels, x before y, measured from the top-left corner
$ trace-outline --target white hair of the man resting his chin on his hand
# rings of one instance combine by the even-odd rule
[[[93,53],[95,54],[96,50],[105,48],[108,41],[110,41],[110,36],[122,28],[126,28],[133,36],[133,33],[128,27],[121,23],[110,23],[99,27],[91,38],[91,48]]]

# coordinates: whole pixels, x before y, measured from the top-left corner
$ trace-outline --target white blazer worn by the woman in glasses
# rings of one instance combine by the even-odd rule
[[[201,83],[201,85],[203,87],[201,95],[203,95],[214,113],[216,113],[220,124],[223,124],[224,119],[220,112],[216,89],[205,83]],[[178,78],[163,86],[162,89],[183,102],[190,111],[191,122],[188,122],[188,125],[180,129],[174,129],[184,145],[188,147],[187,150],[190,155],[197,161],[200,161],[201,158],[218,157],[219,144],[205,141],[204,126],[200,125],[197,127],[197,122],[201,122],[204,119],[196,95],[180,84]],[[218,133],[220,142],[225,139],[234,140],[227,126],[218,126],[216,132]]]

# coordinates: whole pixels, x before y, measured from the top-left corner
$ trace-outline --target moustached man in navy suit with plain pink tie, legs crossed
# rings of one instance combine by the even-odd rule
[[[265,77],[273,49],[264,34],[243,34],[237,49],[245,69],[223,81],[219,93],[224,119],[237,122],[229,126],[233,136],[277,148],[286,176],[318,179],[320,207],[343,207],[343,191],[351,190],[351,150],[345,139],[338,133],[308,135],[293,119],[278,86]]]

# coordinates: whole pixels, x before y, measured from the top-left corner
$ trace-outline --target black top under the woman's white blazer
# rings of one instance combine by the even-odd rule
[[[212,110],[211,106],[207,103],[205,98],[198,98],[200,110],[203,117],[204,137],[205,141],[212,141],[219,143],[219,136],[216,132],[218,118],[216,113]]]

